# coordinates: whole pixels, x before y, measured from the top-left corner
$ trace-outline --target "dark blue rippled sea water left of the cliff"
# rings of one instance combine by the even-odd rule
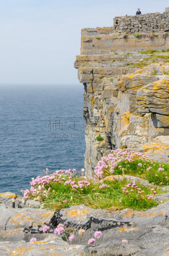
[[[43,170],[84,168],[83,85],[0,86],[0,192]]]

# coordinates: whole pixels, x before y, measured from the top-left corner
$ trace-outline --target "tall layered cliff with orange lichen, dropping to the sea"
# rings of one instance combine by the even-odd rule
[[[124,27],[124,20],[132,17],[136,18],[115,19]],[[85,88],[88,175],[111,149],[125,146],[145,151],[146,143],[169,135],[169,36],[162,25],[156,31],[161,33],[119,34],[117,26],[82,29],[81,54],[76,57],[75,68]],[[169,159],[167,154],[169,147],[164,149],[165,161]]]

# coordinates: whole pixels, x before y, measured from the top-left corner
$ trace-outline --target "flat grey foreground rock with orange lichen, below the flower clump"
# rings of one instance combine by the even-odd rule
[[[15,196],[12,193],[0,196],[0,255],[169,255],[169,201],[142,212],[132,209],[108,212],[85,205],[53,212],[12,208],[12,195]],[[70,244],[63,235],[61,239],[53,233],[59,223],[64,224],[68,238],[75,236]],[[42,232],[44,225],[50,226],[48,233]],[[78,233],[81,228],[85,230],[84,237]],[[95,231],[103,234],[100,242],[95,238],[95,243],[88,247]],[[37,241],[30,243],[32,237]]]

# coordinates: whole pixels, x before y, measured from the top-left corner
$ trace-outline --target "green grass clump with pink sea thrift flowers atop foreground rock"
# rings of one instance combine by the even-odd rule
[[[31,188],[22,191],[25,199],[41,202],[41,208],[60,210],[71,205],[85,204],[109,210],[132,208],[146,210],[158,205],[158,185],[169,185],[169,164],[153,163],[140,153],[128,149],[113,150],[102,157],[95,167],[95,177],[86,177],[84,169],[58,170],[30,182]],[[124,176],[125,174],[130,176]],[[133,176],[148,180],[145,186]],[[143,183],[143,182],[142,182]]]

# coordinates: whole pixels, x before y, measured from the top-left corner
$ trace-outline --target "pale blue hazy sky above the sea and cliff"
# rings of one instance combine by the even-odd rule
[[[0,0],[0,84],[79,84],[82,28],[115,16],[165,11],[168,1]]]

